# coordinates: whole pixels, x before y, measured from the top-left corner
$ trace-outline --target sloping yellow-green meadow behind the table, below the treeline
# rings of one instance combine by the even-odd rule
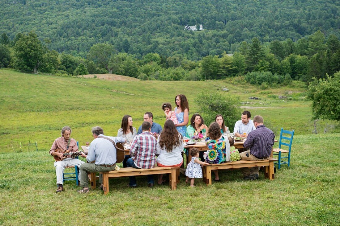
[[[165,117],[160,107],[163,102],[175,105],[175,95],[183,93],[189,100],[191,116],[200,113],[199,106],[193,101],[198,92],[223,87],[230,90],[228,94],[240,98],[240,115],[244,109],[250,110],[253,116],[260,114],[276,133],[281,127],[295,129],[296,134],[311,134],[314,129],[311,102],[304,100],[305,88],[295,88],[301,87],[301,83],[261,90],[242,78],[104,81],[0,70],[0,86],[0,153],[36,150],[34,142],[37,142],[38,150],[49,150],[65,125],[71,126],[72,137],[80,144],[92,139],[93,126],[99,125],[105,134],[115,135],[125,114],[132,115],[136,128],[141,125],[146,111],[151,111],[154,121],[163,125]],[[278,99],[279,95],[291,97],[291,100]],[[253,96],[261,100],[250,100]],[[340,132],[339,123],[318,121],[319,132],[323,132],[325,126],[327,132]]]

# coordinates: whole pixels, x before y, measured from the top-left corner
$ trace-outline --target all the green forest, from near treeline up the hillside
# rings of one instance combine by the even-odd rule
[[[143,80],[245,75],[265,89],[340,70],[337,1],[6,1],[0,68]],[[203,24],[203,31],[184,30]]]

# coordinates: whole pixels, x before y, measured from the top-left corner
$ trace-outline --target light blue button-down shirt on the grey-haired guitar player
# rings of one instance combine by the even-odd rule
[[[99,136],[104,136],[100,134]],[[106,136],[112,139],[115,143],[124,143],[123,137]],[[96,165],[113,165],[117,162],[117,149],[111,141],[104,138],[96,138],[92,140],[86,157],[87,162],[94,160]]]

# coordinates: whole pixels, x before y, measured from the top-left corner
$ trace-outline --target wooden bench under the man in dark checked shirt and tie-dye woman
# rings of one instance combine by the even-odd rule
[[[274,180],[274,161],[275,158],[268,158],[262,161],[247,161],[240,160],[236,162],[227,162],[221,164],[209,164],[203,165],[203,182],[208,185],[211,185],[211,171],[212,170],[221,170],[221,169],[237,169],[244,167],[257,167],[263,166],[265,167],[265,177],[269,180]]]

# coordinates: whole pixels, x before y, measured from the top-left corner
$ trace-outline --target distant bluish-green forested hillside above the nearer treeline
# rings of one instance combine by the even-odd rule
[[[96,43],[119,52],[201,59],[253,37],[293,41],[317,30],[340,37],[339,0],[1,0],[0,34],[34,31],[49,49],[86,56]],[[204,31],[185,31],[203,24]]]

